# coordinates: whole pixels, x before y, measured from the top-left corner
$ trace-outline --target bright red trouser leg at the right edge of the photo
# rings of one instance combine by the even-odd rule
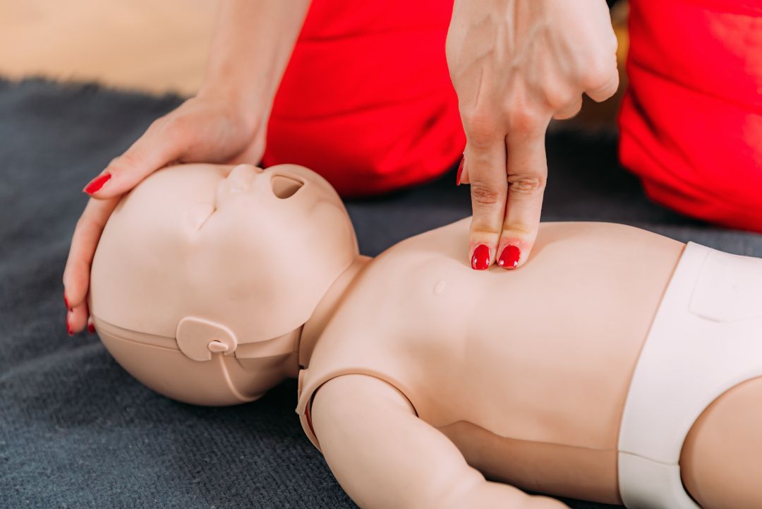
[[[658,203],[762,232],[762,1],[630,6],[623,165]]]

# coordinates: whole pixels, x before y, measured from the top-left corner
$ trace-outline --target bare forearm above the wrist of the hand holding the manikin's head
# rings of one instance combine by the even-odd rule
[[[224,96],[266,116],[309,0],[223,0],[200,95]]]

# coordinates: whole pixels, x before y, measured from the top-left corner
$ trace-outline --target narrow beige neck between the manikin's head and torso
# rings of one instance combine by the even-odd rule
[[[335,315],[341,303],[344,302],[344,298],[357,279],[358,274],[363,271],[363,268],[372,259],[370,256],[358,255],[350,266],[344,269],[344,272],[336,278],[331,287],[328,287],[328,291],[325,292],[318,306],[315,307],[315,312],[312,313],[312,316],[309,317],[301,328],[301,335],[298,340],[299,366],[296,367],[296,373],[291,373],[292,376],[298,376],[298,370],[309,365],[312,351],[315,349],[315,344],[319,341],[325,326],[328,325],[328,322]]]

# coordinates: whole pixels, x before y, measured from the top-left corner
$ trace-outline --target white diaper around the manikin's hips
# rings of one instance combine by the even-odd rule
[[[645,341],[627,395],[619,482],[629,509],[699,509],[680,451],[709,404],[762,376],[762,259],[689,242]]]

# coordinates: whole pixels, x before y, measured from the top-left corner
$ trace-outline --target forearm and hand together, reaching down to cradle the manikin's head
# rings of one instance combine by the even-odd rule
[[[174,162],[260,161],[272,101],[308,7],[309,0],[219,3],[200,93],[152,123],[84,189],[92,198],[77,222],[63,273],[69,335],[88,324],[90,264],[123,193]]]

